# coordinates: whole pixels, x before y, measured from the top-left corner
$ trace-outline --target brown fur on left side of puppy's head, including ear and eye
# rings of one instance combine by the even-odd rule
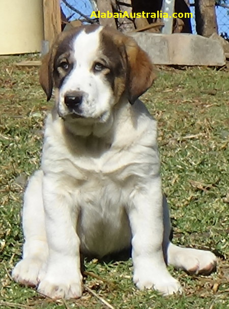
[[[64,78],[72,68],[71,51],[74,38],[83,30],[86,33],[95,31],[98,25],[87,25],[75,27],[67,32],[62,32],[56,37],[49,52],[42,60],[39,80],[41,87],[47,96],[47,101],[51,98],[53,84],[60,88]]]

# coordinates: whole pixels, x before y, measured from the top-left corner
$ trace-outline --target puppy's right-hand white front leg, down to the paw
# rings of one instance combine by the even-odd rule
[[[133,194],[129,211],[132,232],[133,280],[139,289],[154,288],[163,295],[181,290],[168,272],[163,257],[163,208],[161,181],[151,180]]]

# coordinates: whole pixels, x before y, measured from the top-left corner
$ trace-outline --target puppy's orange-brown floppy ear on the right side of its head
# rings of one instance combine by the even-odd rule
[[[125,46],[129,64],[128,99],[133,104],[151,87],[156,75],[148,54],[133,39],[128,38]]]

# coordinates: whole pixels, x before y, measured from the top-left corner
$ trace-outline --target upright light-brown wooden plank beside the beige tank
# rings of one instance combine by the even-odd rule
[[[44,12],[44,39],[53,43],[56,35],[61,33],[61,6],[60,0],[43,0]]]

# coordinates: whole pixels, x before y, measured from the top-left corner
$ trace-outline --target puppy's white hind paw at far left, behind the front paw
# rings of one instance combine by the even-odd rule
[[[38,258],[26,258],[17,263],[12,271],[16,282],[25,286],[36,287],[43,272],[44,261]]]

